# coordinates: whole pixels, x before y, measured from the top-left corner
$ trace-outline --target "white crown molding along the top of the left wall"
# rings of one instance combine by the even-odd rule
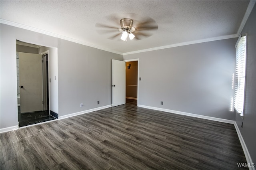
[[[48,32],[48,31],[45,31],[45,30],[41,30],[41,29],[38,29],[38,28],[26,26],[26,25],[19,24],[19,23],[16,23],[16,22],[0,19],[0,23],[6,24],[6,25],[9,25],[9,26],[22,28],[22,29],[25,29],[25,30],[30,30],[30,31],[33,31],[33,32],[38,32],[38,33],[41,33],[41,34],[45,34],[45,35],[52,36],[52,37],[55,37],[55,38],[60,38],[60,39],[67,40],[67,41],[70,41],[70,42],[79,43],[79,44],[82,44],[82,45],[86,45],[86,46],[89,46],[89,47],[101,49],[101,50],[108,51],[108,52],[111,52],[111,53],[116,53],[116,54],[123,55],[123,53],[120,53],[119,51],[113,51],[113,50],[110,50],[110,49],[107,49],[107,48],[104,48],[104,47],[101,47],[101,46],[98,46],[98,45],[95,45],[95,44],[83,42],[83,41],[76,40],[76,39],[73,39],[73,38],[68,38],[66,36],[61,36],[59,34],[55,34],[55,33]]]

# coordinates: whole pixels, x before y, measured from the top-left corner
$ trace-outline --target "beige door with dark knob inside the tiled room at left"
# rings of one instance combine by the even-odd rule
[[[19,53],[20,113],[42,111],[42,55]]]

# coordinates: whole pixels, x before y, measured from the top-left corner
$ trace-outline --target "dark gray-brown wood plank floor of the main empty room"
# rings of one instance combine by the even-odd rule
[[[234,125],[133,102],[0,137],[1,170],[246,169]]]

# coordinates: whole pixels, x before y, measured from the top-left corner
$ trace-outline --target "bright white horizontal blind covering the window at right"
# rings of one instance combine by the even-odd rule
[[[244,116],[244,90],[246,76],[246,36],[241,36],[236,44],[236,76],[234,108]]]

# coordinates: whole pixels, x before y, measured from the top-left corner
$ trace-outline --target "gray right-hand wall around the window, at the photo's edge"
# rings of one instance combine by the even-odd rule
[[[252,162],[256,163],[256,6],[254,6],[242,34],[247,36],[246,93],[244,120],[236,114],[236,124],[250,152]],[[243,128],[241,128],[243,122]]]

